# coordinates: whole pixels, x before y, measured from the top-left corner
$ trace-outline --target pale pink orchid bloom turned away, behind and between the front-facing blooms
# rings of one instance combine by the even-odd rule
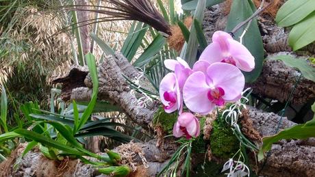
[[[184,59],[177,57],[177,60],[166,59],[164,61],[164,65],[166,68],[168,68],[168,70],[172,70],[175,72],[175,75],[176,75],[178,83],[179,83],[179,88],[180,88],[180,90],[182,90],[182,88],[184,87],[184,84],[186,82],[186,79],[192,73],[192,69],[190,69],[187,62],[185,62]]]

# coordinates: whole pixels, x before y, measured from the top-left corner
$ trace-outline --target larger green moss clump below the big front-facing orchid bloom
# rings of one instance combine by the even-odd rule
[[[217,121],[214,121],[210,137],[210,148],[214,156],[229,159],[238,151],[239,145],[240,142],[231,128],[220,126]]]

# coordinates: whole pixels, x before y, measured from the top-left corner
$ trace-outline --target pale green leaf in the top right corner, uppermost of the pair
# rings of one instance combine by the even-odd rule
[[[275,21],[280,27],[288,27],[299,23],[299,21],[314,11],[314,0],[289,0],[281,6]]]

